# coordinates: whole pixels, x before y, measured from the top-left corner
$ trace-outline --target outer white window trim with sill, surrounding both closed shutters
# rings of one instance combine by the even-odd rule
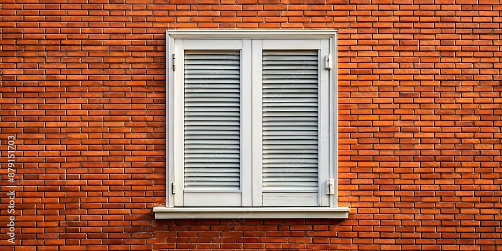
[[[337,207],[337,31],[336,30],[168,30],[166,31],[166,119],[167,119],[167,151],[166,151],[166,206],[154,207],[155,218],[347,218],[349,208]],[[329,39],[332,51],[332,70],[329,74],[330,92],[334,93],[330,100],[330,121],[333,132],[329,134],[330,158],[329,177],[335,181],[335,193],[330,199],[329,207],[174,207],[172,186],[174,182],[174,43],[175,39]]]

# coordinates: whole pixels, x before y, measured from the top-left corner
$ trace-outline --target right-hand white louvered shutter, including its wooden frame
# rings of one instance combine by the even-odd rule
[[[261,201],[254,202],[262,206],[325,204],[320,200],[325,197],[320,181],[326,174],[320,171],[319,139],[321,78],[328,71],[320,67],[320,40],[296,42],[264,40],[261,62],[254,63],[254,70],[261,67],[261,88],[254,92],[261,97],[254,98],[254,105],[260,101],[262,108],[254,117],[261,120],[261,125],[255,123],[261,130],[254,134],[262,136],[254,141],[261,146],[254,150],[261,151],[261,158],[254,158],[261,162]]]

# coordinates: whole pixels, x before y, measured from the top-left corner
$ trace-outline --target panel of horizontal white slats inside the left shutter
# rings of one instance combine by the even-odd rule
[[[185,51],[185,189],[240,189],[239,51]]]

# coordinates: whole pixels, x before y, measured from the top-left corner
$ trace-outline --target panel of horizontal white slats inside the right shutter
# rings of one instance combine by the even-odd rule
[[[318,51],[263,52],[263,191],[318,191]]]

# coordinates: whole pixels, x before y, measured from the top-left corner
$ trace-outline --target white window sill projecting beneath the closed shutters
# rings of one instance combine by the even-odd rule
[[[348,207],[154,207],[156,219],[346,219]]]

